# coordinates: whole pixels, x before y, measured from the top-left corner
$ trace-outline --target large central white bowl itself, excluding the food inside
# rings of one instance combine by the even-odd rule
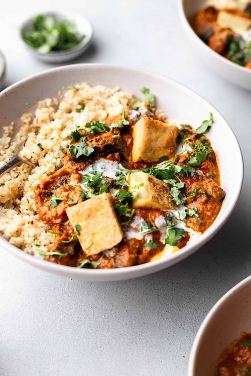
[[[20,118],[24,112],[34,110],[38,100],[58,97],[63,88],[83,81],[91,85],[119,86],[122,90],[132,92],[135,96],[139,96],[139,89],[146,86],[156,95],[158,108],[164,110],[170,119],[175,119],[178,123],[192,124],[197,127],[202,120],[208,118],[210,112],[213,113],[215,123],[208,132],[208,137],[218,153],[221,185],[226,191],[226,197],[218,217],[212,226],[193,243],[188,244],[166,259],[121,269],[91,270],[54,264],[26,254],[11,245],[3,237],[0,237],[0,246],[20,259],[51,273],[95,281],[139,277],[167,268],[183,260],[215,235],[230,216],[238,199],[243,179],[243,161],[238,142],[231,128],[208,102],[166,77],[136,69],[98,64],[76,64],[59,67],[12,85],[0,94],[1,127]],[[13,103],[15,103],[15,106]],[[17,124],[20,124],[20,122],[17,122]],[[3,128],[0,128],[0,136],[1,133],[3,133]]]

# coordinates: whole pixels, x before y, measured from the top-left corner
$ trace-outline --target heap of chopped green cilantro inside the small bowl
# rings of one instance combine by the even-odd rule
[[[41,53],[68,50],[85,38],[78,32],[75,21],[58,21],[49,14],[34,17],[31,27],[23,31],[22,36],[26,44]]]

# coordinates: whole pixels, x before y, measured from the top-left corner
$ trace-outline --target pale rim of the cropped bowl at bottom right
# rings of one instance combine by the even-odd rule
[[[197,357],[197,353],[200,348],[200,344],[202,341],[202,336],[204,330],[207,328],[208,324],[213,320],[215,315],[217,315],[218,311],[221,308],[221,305],[225,303],[229,298],[232,297],[235,293],[237,293],[242,287],[245,285],[250,284],[251,282],[251,275],[242,279],[242,281],[238,282],[236,285],[234,285],[230,290],[228,290],[210,309],[210,311],[207,313],[206,317],[204,318],[202,324],[199,327],[199,330],[197,331],[197,334],[194,338],[194,342],[192,345],[192,349],[189,356],[188,361],[188,376],[195,376],[195,360]]]

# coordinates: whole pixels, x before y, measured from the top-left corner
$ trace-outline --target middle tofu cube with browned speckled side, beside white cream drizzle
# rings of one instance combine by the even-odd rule
[[[137,185],[142,184],[137,187]],[[129,191],[133,193],[134,208],[176,209],[170,187],[164,181],[143,171],[129,175]]]

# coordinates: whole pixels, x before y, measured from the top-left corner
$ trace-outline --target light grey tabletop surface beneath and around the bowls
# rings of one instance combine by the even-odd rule
[[[39,8],[35,3],[1,3],[6,86],[51,67],[23,50],[15,28],[29,13],[65,4],[43,0]],[[184,376],[206,313],[251,271],[251,92],[198,61],[175,0],[71,0],[68,9],[88,17],[95,34],[92,47],[75,62],[147,69],[211,102],[239,140],[244,185],[234,213],[213,240],[180,264],[147,277],[78,282],[33,269],[2,251],[0,375]]]

